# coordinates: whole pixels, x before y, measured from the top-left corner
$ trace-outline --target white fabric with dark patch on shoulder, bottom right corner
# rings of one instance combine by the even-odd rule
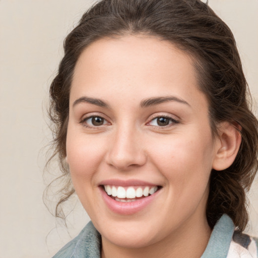
[[[247,234],[234,231],[227,258],[257,258],[258,240]]]

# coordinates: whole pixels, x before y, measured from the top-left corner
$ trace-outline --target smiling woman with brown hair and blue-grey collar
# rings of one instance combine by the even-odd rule
[[[234,37],[197,0],[106,0],[64,42],[55,153],[90,222],[54,257],[256,257],[257,120]]]

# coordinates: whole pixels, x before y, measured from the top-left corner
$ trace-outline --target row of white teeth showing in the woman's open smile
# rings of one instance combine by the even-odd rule
[[[153,195],[161,186],[103,185],[108,196],[117,202],[131,203]]]

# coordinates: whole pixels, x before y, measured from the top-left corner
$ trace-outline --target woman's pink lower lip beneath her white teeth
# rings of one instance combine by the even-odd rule
[[[121,214],[121,215],[132,215],[137,212],[140,212],[155,199],[157,193],[159,192],[158,190],[155,193],[153,193],[153,195],[145,197],[139,201],[123,203],[123,202],[115,201],[110,196],[108,196],[102,186],[100,186],[99,189],[107,207],[112,212]]]

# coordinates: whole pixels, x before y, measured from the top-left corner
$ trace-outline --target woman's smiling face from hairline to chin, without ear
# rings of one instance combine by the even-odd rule
[[[193,60],[171,43],[92,43],[75,68],[67,160],[79,199],[114,245],[144,247],[207,225],[217,152]]]

